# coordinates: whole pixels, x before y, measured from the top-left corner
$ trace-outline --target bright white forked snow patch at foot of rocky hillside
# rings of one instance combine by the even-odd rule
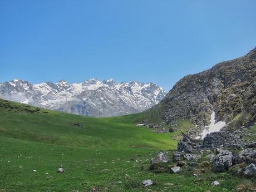
[[[201,133],[201,139],[204,139],[204,137],[207,134],[210,134],[211,132],[219,132],[222,127],[226,125],[225,121],[219,121],[215,123],[215,112],[211,113],[211,121],[209,126],[205,126],[203,132]]]

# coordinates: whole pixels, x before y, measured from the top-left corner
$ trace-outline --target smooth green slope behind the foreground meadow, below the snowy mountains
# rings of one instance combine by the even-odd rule
[[[5,104],[5,105],[4,105]],[[48,144],[98,148],[141,146],[155,149],[175,148],[168,135],[154,134],[132,124],[65,114],[4,102],[0,110],[0,136]],[[13,108],[11,111],[9,109]],[[18,108],[18,109],[15,109]],[[45,113],[47,112],[47,113]],[[80,123],[84,127],[74,126]]]

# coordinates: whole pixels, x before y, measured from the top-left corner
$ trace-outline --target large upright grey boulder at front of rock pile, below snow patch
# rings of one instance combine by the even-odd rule
[[[228,170],[228,168],[232,166],[232,163],[233,163],[232,152],[221,150],[213,160],[213,170],[216,172]]]

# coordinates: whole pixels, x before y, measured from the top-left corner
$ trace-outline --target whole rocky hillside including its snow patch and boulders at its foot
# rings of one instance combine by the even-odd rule
[[[160,152],[152,159],[152,173],[189,175],[191,171],[198,178],[194,182],[203,183],[205,173],[223,172],[224,180],[243,180],[232,191],[256,191],[256,48],[185,76],[147,114],[157,116],[157,111],[178,128],[171,132],[187,133],[181,133],[176,152]],[[182,130],[178,127],[182,119],[196,126]],[[225,185],[224,180],[216,179],[211,186]]]

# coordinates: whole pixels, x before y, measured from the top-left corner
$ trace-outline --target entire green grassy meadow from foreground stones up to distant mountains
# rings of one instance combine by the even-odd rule
[[[193,168],[178,175],[152,174],[150,159],[158,151],[175,149],[176,141],[170,134],[136,127],[142,117],[93,119],[0,100],[0,191],[81,192],[97,186],[101,191],[214,192],[233,191],[245,182],[226,173],[194,178]],[[73,126],[77,122],[85,127]],[[56,173],[59,165],[65,173]],[[145,179],[155,184],[143,188]],[[211,187],[212,180],[221,186]]]

